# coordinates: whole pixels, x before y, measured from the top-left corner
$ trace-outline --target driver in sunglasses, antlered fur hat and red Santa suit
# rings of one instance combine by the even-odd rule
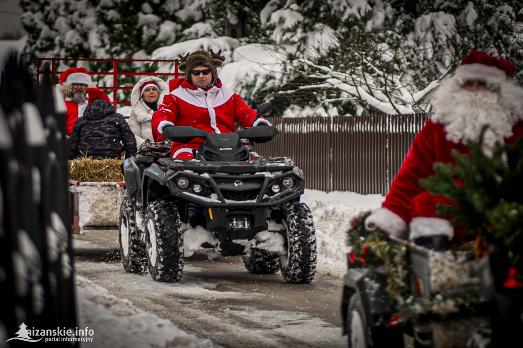
[[[240,95],[223,87],[216,69],[225,60],[218,53],[196,51],[180,55],[178,69],[185,72],[185,78],[170,83],[170,94],[153,114],[153,138],[156,142],[165,140],[161,136],[167,126],[193,126],[208,133],[229,133],[236,131],[236,123],[242,127],[259,124],[270,125],[264,118],[256,118]],[[171,157],[191,159],[203,140],[195,138],[186,144],[173,142]]]

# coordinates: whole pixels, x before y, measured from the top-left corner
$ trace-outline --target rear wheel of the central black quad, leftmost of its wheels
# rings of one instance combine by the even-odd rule
[[[145,273],[147,270],[145,245],[138,238],[134,208],[127,194],[120,205],[118,240],[123,269],[128,273]]]

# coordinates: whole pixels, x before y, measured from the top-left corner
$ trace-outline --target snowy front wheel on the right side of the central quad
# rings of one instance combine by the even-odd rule
[[[310,283],[316,272],[316,233],[312,214],[304,203],[285,206],[287,254],[280,256],[281,274],[289,283]]]

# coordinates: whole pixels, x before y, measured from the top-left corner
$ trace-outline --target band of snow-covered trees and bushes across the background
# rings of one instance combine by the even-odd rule
[[[208,39],[236,35],[240,45],[222,69],[242,60],[244,65],[229,70],[236,74],[231,87],[252,105],[272,101],[276,113],[288,116],[427,111],[430,92],[471,49],[523,65],[523,10],[508,0],[21,0],[20,5],[29,33],[26,53],[34,56],[147,59],[158,48],[188,40],[201,40],[190,47],[203,48]],[[256,44],[271,55],[268,64],[258,62],[259,69],[253,67],[257,57],[243,49],[259,52]],[[523,82],[523,72],[516,79]]]

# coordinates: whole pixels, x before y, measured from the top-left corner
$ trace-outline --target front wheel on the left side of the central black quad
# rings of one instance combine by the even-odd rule
[[[173,202],[156,200],[147,206],[145,242],[153,279],[178,282],[184,269],[184,234]]]

